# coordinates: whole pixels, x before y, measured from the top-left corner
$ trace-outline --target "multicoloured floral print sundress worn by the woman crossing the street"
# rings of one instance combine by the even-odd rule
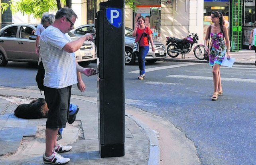
[[[209,65],[221,65],[221,62],[224,60],[224,57],[226,55],[224,34],[222,31],[219,33],[211,33],[211,39],[212,41],[211,49],[209,52]]]

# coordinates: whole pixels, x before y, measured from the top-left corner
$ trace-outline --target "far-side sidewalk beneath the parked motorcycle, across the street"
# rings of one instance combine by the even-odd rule
[[[230,52],[230,55],[235,58],[234,64],[244,64],[244,65],[255,65],[255,51],[254,50],[241,50],[239,52]],[[207,60],[199,60],[195,57],[193,50],[188,54],[185,54],[185,59],[181,58],[181,54],[176,58],[171,58],[167,55],[164,61],[177,61],[177,62],[198,62],[198,63],[208,63]]]

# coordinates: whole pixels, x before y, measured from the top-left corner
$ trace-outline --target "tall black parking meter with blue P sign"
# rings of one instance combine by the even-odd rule
[[[95,19],[101,157],[124,156],[124,6],[101,2]]]

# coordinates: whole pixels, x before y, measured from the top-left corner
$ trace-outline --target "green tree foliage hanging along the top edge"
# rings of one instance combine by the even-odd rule
[[[136,0],[125,0],[127,6],[136,10]],[[137,0],[138,1],[138,0]],[[1,3],[2,13],[10,7],[13,14],[21,12],[22,14],[32,14],[35,18],[41,18],[44,12],[49,10],[59,10],[61,8],[61,2],[64,6],[71,8],[72,0],[10,0],[10,3]]]

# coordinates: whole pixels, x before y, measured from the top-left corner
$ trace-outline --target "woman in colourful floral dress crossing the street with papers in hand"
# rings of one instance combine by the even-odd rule
[[[218,11],[213,11],[211,13],[211,20],[213,25],[210,28],[208,27],[205,37],[205,49],[209,51],[209,64],[213,67],[213,85],[214,91],[211,97],[212,100],[217,100],[219,95],[223,94],[222,86],[221,86],[221,72],[220,67],[221,63],[224,60],[224,57],[230,58],[230,44],[228,38],[228,29],[224,26],[223,14]],[[209,33],[211,34],[211,46],[210,49],[207,47],[207,40]],[[226,40],[226,48],[225,49],[225,41]]]

